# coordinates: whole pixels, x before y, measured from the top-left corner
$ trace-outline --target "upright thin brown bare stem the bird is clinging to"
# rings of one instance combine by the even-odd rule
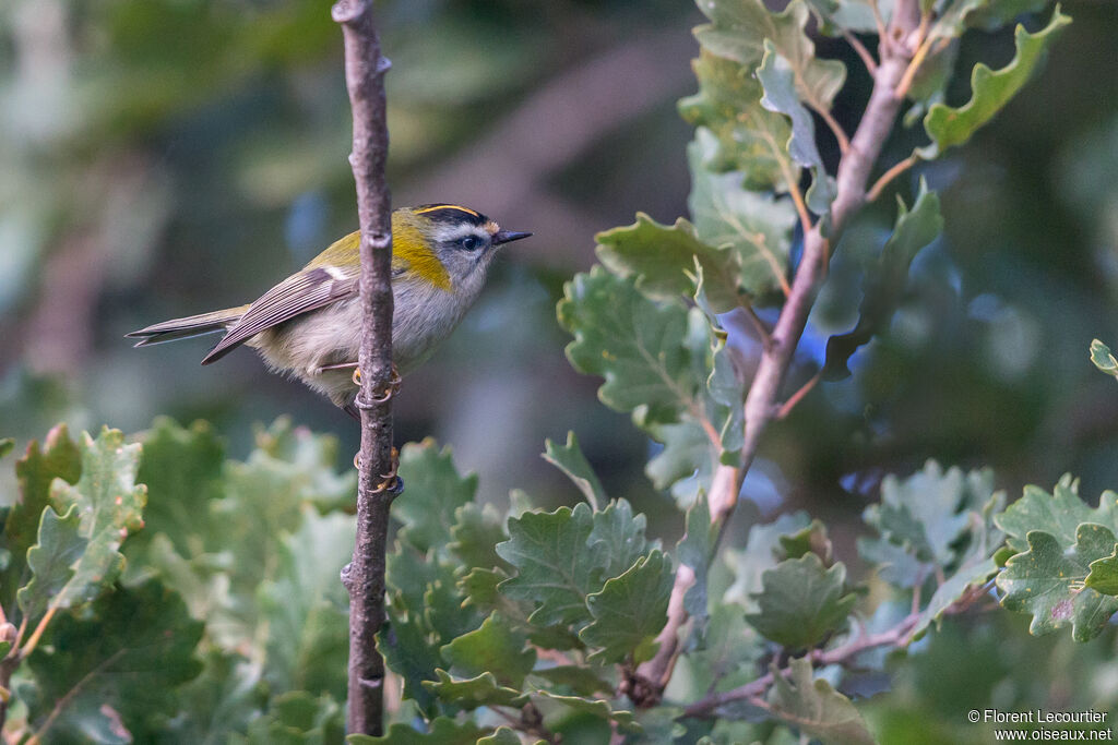
[[[350,594],[349,719],[351,733],[380,735],[383,729],[385,660],[377,631],[385,619],[385,551],[392,472],[392,228],[391,197],[385,181],[388,126],[385,73],[371,0],[339,0],[331,10],[342,25],[345,86],[353,109],[353,152],[361,225],[361,456],[357,497],[357,541],[344,574]],[[391,477],[388,477],[389,480]]]

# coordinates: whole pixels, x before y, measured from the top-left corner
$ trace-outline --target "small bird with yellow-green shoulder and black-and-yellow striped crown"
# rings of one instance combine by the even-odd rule
[[[485,285],[496,249],[530,232],[502,230],[459,204],[392,212],[392,362],[406,375],[454,331]],[[361,344],[360,233],[351,232],[248,305],[164,321],[127,336],[136,346],[225,332],[202,360],[255,347],[275,372],[297,378],[351,417]]]

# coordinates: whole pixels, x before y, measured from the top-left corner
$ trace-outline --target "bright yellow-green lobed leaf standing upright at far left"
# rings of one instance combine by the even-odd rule
[[[140,459],[139,445],[124,445],[124,434],[105,428],[96,440],[82,433],[82,477],[70,485],[58,479],[51,486],[50,499],[69,515],[76,509],[78,526],[74,533],[53,518],[47,538],[38,546],[36,562],[49,577],[21,591],[20,608],[25,613],[47,606],[72,608],[89,602],[115,582],[124,564],[117,551],[131,531],[143,525],[140,517],[146,502],[146,489],[135,484]],[[65,517],[63,518],[66,519]],[[84,542],[84,550],[78,546]],[[80,552],[80,553],[78,553]],[[74,558],[73,573],[65,584],[60,580],[59,561]],[[49,590],[49,594],[46,592]]]

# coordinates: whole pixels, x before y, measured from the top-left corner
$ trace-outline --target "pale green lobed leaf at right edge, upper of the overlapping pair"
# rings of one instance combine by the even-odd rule
[[[1021,499],[1010,505],[994,522],[1008,534],[1010,547],[1017,553],[1029,551],[1026,536],[1031,531],[1048,533],[1068,548],[1076,543],[1077,531],[1083,523],[1097,523],[1118,531],[1118,494],[1105,491],[1098,508],[1091,509],[1079,496],[1079,483],[1065,475],[1052,494],[1038,486],[1026,486]]]

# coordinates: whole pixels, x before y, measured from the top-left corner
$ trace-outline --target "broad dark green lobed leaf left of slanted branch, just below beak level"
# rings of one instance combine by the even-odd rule
[[[632,411],[638,426],[678,421],[693,405],[701,381],[685,344],[686,309],[653,303],[601,267],[577,275],[563,295],[559,323],[575,335],[567,357],[579,372],[606,379],[603,403]]]

